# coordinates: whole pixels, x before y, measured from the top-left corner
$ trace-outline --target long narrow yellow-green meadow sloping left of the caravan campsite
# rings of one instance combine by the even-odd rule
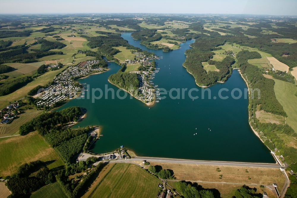
[[[48,71],[45,74],[42,74],[41,76],[35,78],[33,81],[29,82],[24,87],[16,90],[15,92],[12,92],[11,94],[4,95],[0,97],[0,109],[4,108],[5,106],[12,103],[14,100],[19,100],[27,95],[27,93],[36,87],[37,85],[45,86],[49,82],[53,81],[55,76],[63,71],[66,68],[64,66],[63,68],[56,70],[56,71]]]

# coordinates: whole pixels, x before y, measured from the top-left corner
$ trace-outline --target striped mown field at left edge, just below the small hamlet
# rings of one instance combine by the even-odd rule
[[[25,113],[20,114],[18,118],[13,119],[9,124],[0,124],[0,137],[18,134],[21,125],[32,120],[41,113],[42,111],[26,110]]]

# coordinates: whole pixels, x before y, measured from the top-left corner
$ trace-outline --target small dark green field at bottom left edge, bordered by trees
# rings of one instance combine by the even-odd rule
[[[35,191],[30,196],[30,198],[51,198],[51,197],[67,198],[67,196],[64,194],[58,182],[51,183],[47,186],[44,186],[39,190]]]

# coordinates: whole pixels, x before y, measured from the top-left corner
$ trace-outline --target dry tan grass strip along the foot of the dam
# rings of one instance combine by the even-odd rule
[[[259,185],[271,185],[272,183],[277,183],[279,189],[282,189],[285,183],[285,175],[279,168],[159,162],[151,162],[151,165],[159,165],[162,166],[162,169],[173,170],[176,180],[231,182],[245,183],[247,185],[250,183]],[[217,168],[219,168],[220,172],[217,171]],[[223,175],[222,179],[219,178],[219,175]],[[251,178],[250,180],[249,177]]]

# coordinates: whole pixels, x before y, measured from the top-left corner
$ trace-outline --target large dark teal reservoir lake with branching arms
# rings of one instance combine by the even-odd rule
[[[181,43],[181,48],[177,50],[163,52],[146,48],[139,40],[134,40],[131,33],[124,33],[122,37],[135,47],[163,57],[156,60],[160,69],[153,82],[158,88],[197,88],[199,98],[192,100],[186,96],[185,99],[173,100],[167,97],[151,107],[130,97],[105,99],[103,95],[94,103],[91,98],[70,100],[58,110],[69,106],[87,109],[86,118],[75,127],[102,127],[101,134],[104,136],[93,144],[92,152],[111,152],[124,145],[138,156],[275,163],[270,150],[249,126],[248,99],[231,97],[234,88],[243,93],[247,91],[247,85],[237,70],[233,70],[225,83],[209,87],[212,99],[202,99],[202,88],[195,84],[193,76],[182,66],[186,58],[184,53],[194,40]],[[107,72],[91,75],[79,82],[89,84],[89,89],[102,90],[107,84],[108,88],[116,91],[118,88],[108,82],[108,77],[121,67],[110,62],[108,68]],[[229,96],[228,99],[219,99],[218,93],[222,88],[230,90],[222,94]],[[124,95],[123,91],[121,95]]]

